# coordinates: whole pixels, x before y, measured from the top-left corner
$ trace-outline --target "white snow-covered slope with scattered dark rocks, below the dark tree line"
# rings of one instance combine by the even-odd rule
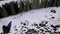
[[[54,32],[54,30],[51,25],[60,25],[60,7],[33,9],[17,15],[2,18],[0,19],[0,33],[3,32],[2,26],[7,25],[10,21],[12,21],[12,25],[10,33],[8,34],[52,34],[51,32]],[[48,22],[46,26],[39,26],[39,24],[45,24],[45,22]],[[47,28],[48,31],[51,32],[46,32],[47,30],[44,28]],[[36,32],[27,32],[29,29],[36,30]],[[44,31],[42,32],[41,29]],[[60,32],[60,27],[57,28],[56,32]]]

